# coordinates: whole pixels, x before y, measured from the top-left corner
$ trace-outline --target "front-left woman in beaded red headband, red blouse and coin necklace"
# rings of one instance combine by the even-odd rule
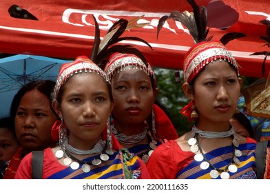
[[[61,66],[52,105],[61,121],[52,128],[55,148],[44,150],[43,179],[147,179],[138,156],[121,149],[110,133],[114,106],[106,74],[86,57]],[[108,125],[108,127],[107,127]],[[16,179],[32,179],[32,153]]]

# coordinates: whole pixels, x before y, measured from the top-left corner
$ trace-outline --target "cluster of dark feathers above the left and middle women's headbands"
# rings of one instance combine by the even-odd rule
[[[96,22],[96,18],[94,17],[96,32],[95,32],[94,46],[92,49],[90,59],[94,61],[94,63],[97,63],[98,65],[104,65],[104,63],[106,62],[107,58],[110,57],[110,55],[116,52],[120,52],[120,53],[126,53],[126,54],[135,54],[140,59],[142,59],[142,61],[145,62],[145,64],[147,64],[147,59],[145,59],[141,51],[132,47],[132,45],[116,44],[123,40],[134,40],[134,41],[141,41],[145,43],[146,45],[148,45],[149,48],[152,49],[152,46],[149,43],[147,43],[147,41],[141,38],[121,37],[123,32],[125,32],[126,30],[131,30],[133,28],[141,28],[143,26],[147,26],[149,23],[136,23],[142,17],[143,16],[136,17],[135,19],[131,19],[129,21],[127,21],[126,19],[119,19],[107,31],[107,33],[105,34],[105,37],[103,37],[102,40],[100,37],[98,23]]]

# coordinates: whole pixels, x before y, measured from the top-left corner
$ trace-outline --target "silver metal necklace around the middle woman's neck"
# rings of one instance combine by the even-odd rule
[[[134,144],[134,143],[139,143],[141,142],[143,139],[145,139],[145,136],[147,135],[147,130],[143,130],[143,132],[139,133],[139,134],[133,134],[133,135],[125,135],[123,133],[118,133],[116,128],[114,128],[114,125],[111,125],[112,128],[112,133],[114,134],[114,136],[116,137],[116,139],[120,142],[120,143],[124,143],[124,144]]]

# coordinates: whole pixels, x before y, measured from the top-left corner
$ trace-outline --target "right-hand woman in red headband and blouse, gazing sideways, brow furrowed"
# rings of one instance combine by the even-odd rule
[[[182,110],[195,121],[187,134],[160,145],[147,168],[153,179],[256,179],[256,141],[234,132],[242,79],[225,46],[203,41],[185,57],[183,91],[191,102]]]

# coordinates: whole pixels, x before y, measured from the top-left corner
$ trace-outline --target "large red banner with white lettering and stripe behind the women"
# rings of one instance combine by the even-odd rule
[[[196,1],[205,5],[209,1]],[[227,30],[210,28],[209,36],[220,39],[227,32],[242,32],[247,37],[227,44],[242,66],[240,74],[249,77],[262,77],[261,68],[264,56],[251,56],[253,52],[267,51],[260,36],[266,36],[266,26],[259,23],[270,19],[269,0],[223,0],[239,14],[239,20]],[[124,36],[137,36],[149,42],[154,50],[134,41],[146,57],[158,68],[183,69],[183,57],[193,44],[191,36],[181,23],[168,20],[156,39],[158,19],[173,10],[191,11],[186,1],[57,1],[57,0],[8,0],[0,1],[0,52],[11,54],[35,54],[45,57],[74,59],[79,55],[90,56],[94,42],[94,21],[96,17],[101,29],[101,37],[117,19],[132,19],[144,15],[138,22],[149,22],[148,26],[125,32]],[[17,6],[28,10],[38,21],[10,17],[8,9]],[[270,69],[270,59],[266,63],[264,77]]]

